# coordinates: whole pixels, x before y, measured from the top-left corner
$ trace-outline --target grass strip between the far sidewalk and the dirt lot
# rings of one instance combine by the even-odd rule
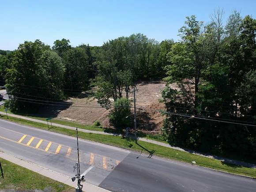
[[[5,113],[4,106],[0,107],[0,111]],[[7,113],[11,113],[11,111],[8,109]],[[21,116],[29,117],[29,118],[32,118],[32,119],[46,121],[45,117],[35,117],[35,116],[32,116],[31,114],[25,114],[25,113],[11,113],[11,114],[21,115]],[[79,124],[79,123],[71,122],[71,121],[68,121],[68,120],[60,120],[60,119],[54,119],[53,118],[52,123],[68,125],[68,126],[71,126],[71,127],[78,127],[78,128],[87,129],[87,130],[90,130],[90,131],[99,131],[99,132],[104,131],[104,128],[99,127],[99,126]]]

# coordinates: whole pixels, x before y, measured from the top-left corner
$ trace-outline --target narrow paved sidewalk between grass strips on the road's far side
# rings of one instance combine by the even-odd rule
[[[1,115],[6,115],[6,113],[4,113],[4,112],[0,112],[0,114]],[[24,120],[30,120],[30,121],[34,121],[34,122],[38,122],[38,123],[42,123],[42,124],[47,124],[47,122],[43,121],[43,120],[33,119],[33,118],[24,117],[24,116],[20,116],[20,115],[15,115],[15,114],[11,114],[11,113],[8,113],[8,116],[16,117],[16,118],[20,118],[20,119],[24,119]],[[67,129],[71,129],[71,130],[76,129],[75,127],[71,127],[71,126],[68,126],[68,125],[56,124],[56,123],[52,123],[52,124],[53,124],[53,126],[56,126],[56,127],[67,128]],[[78,128],[78,131],[79,132],[85,132],[85,133],[101,134],[101,135],[120,136],[119,134],[100,132],[100,131],[92,131],[92,130],[81,129],[81,128]],[[141,141],[148,142],[148,143],[154,143],[156,145],[160,145],[160,146],[163,146],[163,147],[169,147],[169,148],[176,149],[176,150],[179,150],[179,151],[184,151],[184,152],[188,152],[188,153],[192,153],[192,154],[197,154],[197,155],[200,155],[200,156],[203,156],[203,157],[225,161],[225,162],[228,162],[228,163],[231,163],[231,164],[234,164],[234,165],[245,166],[245,167],[250,167],[250,168],[255,168],[256,169],[255,164],[251,164],[251,163],[247,163],[247,162],[241,162],[241,161],[233,160],[233,159],[229,159],[229,158],[223,158],[223,157],[219,157],[219,156],[215,156],[215,155],[203,154],[203,153],[199,153],[199,152],[196,152],[196,151],[183,149],[183,148],[180,148],[180,147],[173,147],[173,146],[170,146],[167,143],[162,143],[162,142],[147,139],[147,138],[138,138],[138,139],[141,140]]]

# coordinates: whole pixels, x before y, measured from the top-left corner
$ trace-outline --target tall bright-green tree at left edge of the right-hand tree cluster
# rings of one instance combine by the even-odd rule
[[[170,65],[166,66],[168,77],[167,83],[177,83],[180,90],[178,94],[185,97],[194,108],[198,106],[198,86],[200,83],[201,72],[204,66],[203,43],[204,34],[200,33],[202,22],[196,21],[195,16],[187,17],[179,31],[182,42],[172,46],[167,54]]]

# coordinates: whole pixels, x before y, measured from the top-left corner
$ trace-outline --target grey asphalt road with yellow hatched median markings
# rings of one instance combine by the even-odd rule
[[[254,192],[256,180],[79,140],[81,173],[114,192]],[[0,120],[0,150],[73,177],[76,139]]]

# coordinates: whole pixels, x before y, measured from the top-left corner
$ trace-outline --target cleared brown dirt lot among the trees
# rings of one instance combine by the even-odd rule
[[[139,82],[136,85],[136,105],[138,108],[138,128],[146,132],[155,132],[162,127],[164,117],[151,109],[164,109],[164,105],[158,100],[162,98],[162,90],[165,84],[162,81]],[[129,94],[133,99],[133,94]],[[85,107],[69,107],[59,111],[56,118],[80,122],[83,124],[93,124],[99,120],[104,126],[109,126],[107,115],[109,110],[101,108],[94,98],[70,98],[72,105]],[[133,102],[132,102],[133,104]]]

